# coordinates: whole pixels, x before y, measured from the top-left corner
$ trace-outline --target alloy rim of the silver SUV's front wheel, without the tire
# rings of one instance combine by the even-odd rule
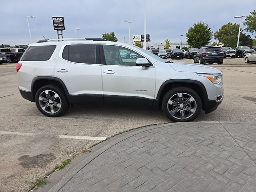
[[[167,109],[172,117],[186,120],[196,112],[196,100],[190,94],[177,93],[168,100]]]

